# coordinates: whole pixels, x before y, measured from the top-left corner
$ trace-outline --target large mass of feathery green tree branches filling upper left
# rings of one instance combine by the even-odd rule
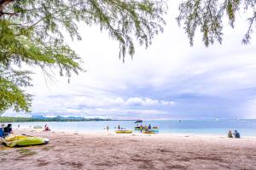
[[[29,71],[58,68],[61,76],[83,71],[81,59],[64,42],[63,30],[81,40],[79,22],[99,26],[119,42],[119,58],[135,53],[134,39],[151,44],[163,31],[166,3],[156,0],[0,0],[0,115],[3,111],[30,111]]]

